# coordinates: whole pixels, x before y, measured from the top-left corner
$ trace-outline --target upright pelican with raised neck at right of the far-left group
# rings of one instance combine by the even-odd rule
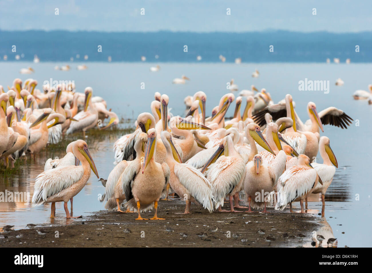
[[[75,131],[83,131],[85,137],[85,131],[96,126],[98,120],[98,111],[94,107],[91,97],[93,89],[92,87],[85,88],[85,101],[84,111],[79,112],[74,116],[77,121],[71,121],[70,127],[67,129],[66,134],[74,133]],[[88,110],[89,105],[89,110]]]

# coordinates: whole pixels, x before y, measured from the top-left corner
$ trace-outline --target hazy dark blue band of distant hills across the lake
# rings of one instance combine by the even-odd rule
[[[16,45],[16,52],[12,52]],[[97,46],[102,45],[102,52]],[[184,52],[187,45],[188,52]],[[274,52],[269,52],[269,46]],[[360,52],[355,52],[359,45]],[[24,61],[32,61],[36,54],[43,61],[137,62],[146,56],[149,62],[226,62],[240,57],[242,62],[325,62],[340,58],[345,62],[372,61],[372,32],[329,33],[289,32],[282,30],[245,33],[195,33],[195,32],[69,32],[62,30],[1,31],[0,61],[3,55],[15,61],[15,55],[24,54]],[[80,58],[77,59],[76,55]],[[155,59],[155,55],[159,58]],[[85,61],[84,61],[85,62]]]

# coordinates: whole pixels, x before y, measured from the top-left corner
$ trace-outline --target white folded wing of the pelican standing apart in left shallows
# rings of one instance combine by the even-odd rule
[[[50,169],[36,177],[32,203],[38,206],[48,197],[61,192],[78,182],[84,175],[83,166],[64,166]]]

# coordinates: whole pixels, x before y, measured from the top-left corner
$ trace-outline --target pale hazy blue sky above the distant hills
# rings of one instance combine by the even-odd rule
[[[0,0],[0,29],[360,32],[372,30],[371,10],[371,0]]]

